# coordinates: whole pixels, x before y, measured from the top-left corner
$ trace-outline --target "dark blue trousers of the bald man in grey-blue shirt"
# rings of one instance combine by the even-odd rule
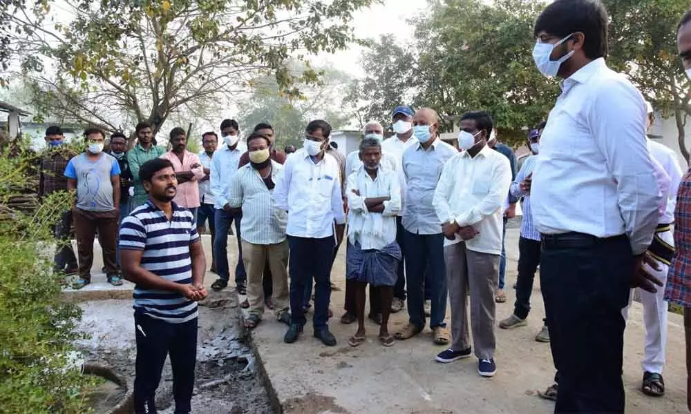
[[[446,326],[446,265],[444,264],[444,235],[416,235],[404,229],[403,255],[406,260],[408,283],[408,317],[416,328],[425,327],[424,286],[430,290],[432,314],[430,328]],[[427,279],[427,281],[425,280]]]

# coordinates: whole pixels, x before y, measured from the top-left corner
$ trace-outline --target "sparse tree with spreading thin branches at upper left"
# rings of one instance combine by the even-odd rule
[[[291,72],[287,58],[345,48],[354,39],[352,12],[371,1],[64,0],[74,15],[68,24],[46,28],[27,13],[12,21],[30,28],[15,40],[44,110],[109,131],[128,117],[148,120],[158,132],[171,112],[227,104],[258,76],[271,74],[299,97],[294,83],[318,74],[310,66]],[[41,56],[51,59],[49,70]]]

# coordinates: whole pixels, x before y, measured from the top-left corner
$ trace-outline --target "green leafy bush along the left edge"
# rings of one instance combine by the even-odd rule
[[[50,226],[68,208],[66,192],[30,211],[12,200],[35,186],[41,154],[14,146],[0,154],[0,413],[85,413],[90,380],[66,368],[79,337],[77,306],[61,301]]]

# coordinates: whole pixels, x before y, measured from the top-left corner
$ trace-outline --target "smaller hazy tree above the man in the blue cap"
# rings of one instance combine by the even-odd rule
[[[360,60],[366,76],[352,83],[344,103],[354,108],[360,128],[368,121],[379,121],[388,128],[393,108],[413,99],[417,60],[392,34],[370,40],[366,46]]]

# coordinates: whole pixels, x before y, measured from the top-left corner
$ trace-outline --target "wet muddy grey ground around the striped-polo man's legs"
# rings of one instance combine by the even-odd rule
[[[214,295],[199,310],[199,338],[192,412],[199,414],[273,414],[247,337],[239,329],[235,295]],[[135,332],[131,299],[83,302],[79,330],[90,335],[79,346],[87,362],[104,363],[115,372],[134,379]],[[158,411],[173,414],[172,373],[167,360],[156,395]],[[98,397],[104,410],[115,403],[123,390],[105,384]],[[109,405],[110,404],[110,405]],[[97,411],[98,412],[98,411]],[[104,411],[100,411],[104,412]]]

